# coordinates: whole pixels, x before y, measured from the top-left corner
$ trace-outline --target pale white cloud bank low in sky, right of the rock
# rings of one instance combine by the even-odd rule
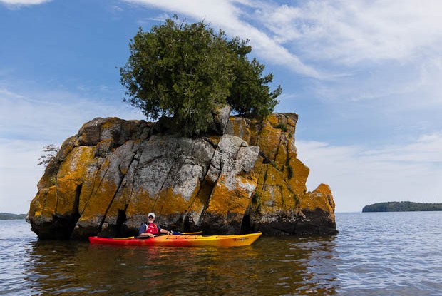
[[[329,184],[337,212],[386,201],[442,202],[442,133],[377,150],[315,141],[297,141],[297,148],[310,168],[308,190]]]

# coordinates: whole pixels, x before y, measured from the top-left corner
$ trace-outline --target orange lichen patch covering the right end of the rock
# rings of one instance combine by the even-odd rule
[[[302,208],[333,212],[333,197],[327,185],[307,193],[309,168],[297,159],[294,135],[290,134],[294,133],[295,120],[274,114],[264,120],[259,133],[259,146],[265,158],[259,156],[253,170],[258,176],[255,194],[259,196],[259,205],[253,207],[263,215]],[[284,132],[279,127],[286,124],[287,132]]]

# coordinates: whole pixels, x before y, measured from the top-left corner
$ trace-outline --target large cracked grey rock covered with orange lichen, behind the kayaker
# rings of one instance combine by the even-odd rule
[[[137,233],[148,212],[164,228],[232,234],[336,234],[328,185],[307,192],[297,159],[297,115],[266,119],[214,114],[200,138],[173,121],[95,118],[68,138],[31,202],[39,238]]]

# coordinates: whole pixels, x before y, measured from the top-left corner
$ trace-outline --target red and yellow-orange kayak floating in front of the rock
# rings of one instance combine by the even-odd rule
[[[247,235],[158,235],[153,238],[100,238],[89,237],[91,244],[103,245],[141,245],[141,246],[164,246],[164,247],[240,247],[251,245],[259,236],[259,233]]]

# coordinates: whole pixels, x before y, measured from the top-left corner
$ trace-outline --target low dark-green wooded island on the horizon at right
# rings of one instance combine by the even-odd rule
[[[391,201],[374,203],[362,208],[362,212],[411,212],[423,210],[442,210],[442,203],[412,203],[411,201]]]

